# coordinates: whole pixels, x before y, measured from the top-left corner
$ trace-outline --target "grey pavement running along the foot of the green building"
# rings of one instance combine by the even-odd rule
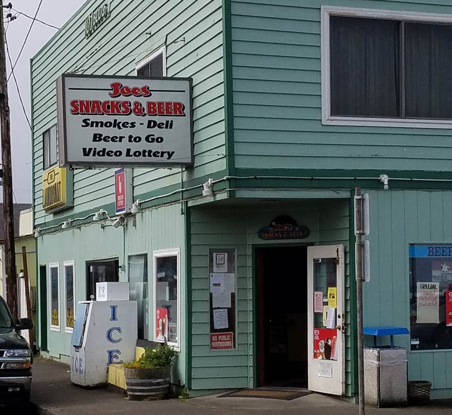
[[[358,414],[358,406],[341,399],[310,394],[291,401],[253,398],[217,398],[215,395],[187,401],[162,400],[134,402],[125,395],[107,389],[83,389],[71,385],[69,366],[44,359],[33,365],[31,400],[39,415],[106,415],[177,413],[178,415],[217,414],[258,415],[334,415]],[[451,401],[437,401],[428,407],[395,409],[367,408],[369,415],[445,415],[452,413]]]

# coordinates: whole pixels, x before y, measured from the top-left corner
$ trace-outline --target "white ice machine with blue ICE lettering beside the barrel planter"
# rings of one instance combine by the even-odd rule
[[[97,283],[97,301],[80,301],[71,340],[71,381],[81,386],[106,383],[108,365],[135,360],[137,302],[129,283]]]

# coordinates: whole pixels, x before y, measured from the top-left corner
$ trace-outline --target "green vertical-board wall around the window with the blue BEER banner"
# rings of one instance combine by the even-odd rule
[[[364,324],[409,329],[408,245],[452,240],[452,193],[422,190],[367,193],[371,281],[364,285]],[[410,350],[409,336],[396,336],[395,342]],[[430,380],[433,389],[452,389],[450,360],[450,352],[443,350],[409,352],[408,378]]]

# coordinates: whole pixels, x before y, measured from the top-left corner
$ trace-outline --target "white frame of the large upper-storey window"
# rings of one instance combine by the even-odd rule
[[[409,128],[452,128],[452,120],[399,119],[385,117],[352,117],[331,115],[330,99],[330,16],[362,17],[369,19],[404,20],[419,23],[452,24],[452,15],[436,13],[399,12],[393,10],[359,9],[334,6],[321,7],[321,83],[322,83],[322,124],[356,125],[376,127]]]

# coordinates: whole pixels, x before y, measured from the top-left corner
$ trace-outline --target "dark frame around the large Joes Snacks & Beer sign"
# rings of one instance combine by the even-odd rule
[[[188,162],[172,162],[167,161],[165,163],[153,163],[153,162],[139,162],[131,160],[130,163],[119,162],[111,160],[85,162],[80,160],[68,160],[67,154],[67,119],[65,111],[66,93],[65,93],[65,80],[67,78],[86,78],[86,79],[111,79],[111,80],[130,80],[130,81],[186,81],[189,84],[188,87],[188,102],[190,108],[187,111],[187,117],[189,119],[190,131],[189,131],[189,149],[190,149],[190,161]],[[80,75],[80,74],[62,74],[56,81],[56,98],[57,98],[57,123],[58,123],[58,146],[59,146],[59,167],[66,167],[69,169],[104,169],[104,168],[173,168],[173,167],[192,167],[194,165],[194,131],[193,131],[193,79],[183,77],[166,77],[166,76],[121,76],[121,75]],[[119,116],[119,115],[118,115]]]

